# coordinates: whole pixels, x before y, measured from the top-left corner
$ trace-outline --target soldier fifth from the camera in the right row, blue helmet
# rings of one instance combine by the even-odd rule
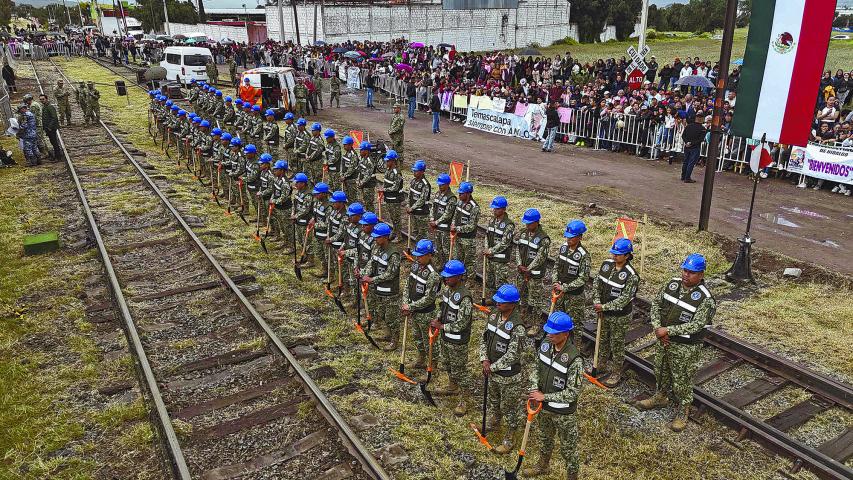
[[[483,246],[483,261],[486,262],[486,288],[483,292],[486,298],[489,293],[496,292],[498,287],[514,280],[509,268],[512,255],[512,240],[515,236],[515,223],[506,214],[507,201],[504,197],[495,197],[489,205],[492,209],[492,219],[486,230],[485,245]],[[491,304],[491,299],[486,303]]]

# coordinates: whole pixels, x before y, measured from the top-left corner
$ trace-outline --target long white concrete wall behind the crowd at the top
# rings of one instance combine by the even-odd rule
[[[440,4],[394,6],[298,5],[303,44],[315,40],[389,41],[406,37],[427,45],[449,43],[460,51],[522,48],[531,43],[550,45],[573,34],[569,6],[564,0],[531,0],[518,9],[443,10]],[[314,14],[317,14],[316,37]],[[284,7],[285,40],[295,39],[293,8]],[[279,40],[276,7],[267,7],[267,32]]]

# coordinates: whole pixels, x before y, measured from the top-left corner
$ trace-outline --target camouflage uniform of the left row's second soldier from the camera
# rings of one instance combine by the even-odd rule
[[[521,374],[521,353],[525,345],[524,324],[516,306],[509,316],[495,310],[489,315],[486,330],[480,340],[480,362],[491,363],[489,371],[489,409],[493,418],[503,418],[512,438],[521,425],[521,400],[524,382]]]

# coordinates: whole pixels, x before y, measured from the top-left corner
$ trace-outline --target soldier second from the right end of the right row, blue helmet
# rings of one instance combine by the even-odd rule
[[[610,375],[604,380],[615,387],[622,379],[622,362],[625,359],[625,332],[631,321],[632,303],[637,295],[640,276],[631,266],[634,246],[631,240],[620,238],[613,243],[611,260],[605,260],[598,270],[593,289],[593,307],[603,318],[601,345],[598,347],[599,365],[604,363]],[[608,359],[611,360],[607,364]]]

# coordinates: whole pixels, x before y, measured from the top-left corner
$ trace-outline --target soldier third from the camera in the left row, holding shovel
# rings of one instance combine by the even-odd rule
[[[468,386],[468,341],[471,339],[471,314],[474,301],[465,287],[465,265],[459,260],[450,260],[441,271],[444,288],[436,318],[430,322],[432,328],[441,331],[441,355],[447,376],[446,388],[435,390],[436,395],[458,395],[454,415],[465,415],[468,408],[462,389]]]

